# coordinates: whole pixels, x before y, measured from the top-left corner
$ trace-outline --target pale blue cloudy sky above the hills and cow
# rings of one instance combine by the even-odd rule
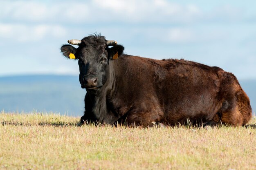
[[[0,76],[78,75],[60,47],[97,32],[126,54],[256,79],[255,9],[255,0],[0,0]]]

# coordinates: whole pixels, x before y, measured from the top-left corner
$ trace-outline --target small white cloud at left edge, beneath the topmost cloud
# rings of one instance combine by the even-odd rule
[[[46,37],[64,37],[66,33],[66,29],[59,25],[39,24],[29,26],[26,24],[0,23],[0,37],[6,38],[8,41],[33,42]]]

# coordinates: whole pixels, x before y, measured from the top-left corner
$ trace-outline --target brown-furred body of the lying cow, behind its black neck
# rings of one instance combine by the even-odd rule
[[[126,116],[128,124],[176,125],[189,119],[193,124],[243,126],[252,117],[249,98],[238,80],[221,68],[135,56],[123,56],[119,64],[124,68],[117,69],[117,79],[125,81],[118,81],[114,103],[132,108]]]

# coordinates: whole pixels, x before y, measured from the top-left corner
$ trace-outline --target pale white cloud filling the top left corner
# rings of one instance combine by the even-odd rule
[[[88,17],[89,7],[85,3],[63,1],[1,1],[0,18],[27,22],[76,22]]]

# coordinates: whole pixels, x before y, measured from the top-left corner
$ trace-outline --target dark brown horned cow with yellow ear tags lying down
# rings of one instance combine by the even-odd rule
[[[68,42],[78,47],[64,44],[61,52],[78,60],[87,92],[81,124],[244,126],[252,117],[236,77],[217,66],[123,54],[124,46],[100,34]]]

